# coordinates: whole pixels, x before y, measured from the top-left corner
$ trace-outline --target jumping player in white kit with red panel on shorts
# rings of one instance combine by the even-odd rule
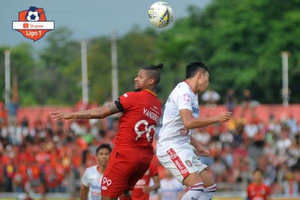
[[[156,155],[160,163],[189,188],[183,200],[209,200],[216,189],[212,177],[204,170],[207,166],[197,156],[207,156],[209,151],[191,135],[193,128],[226,122],[231,117],[230,112],[221,112],[199,118],[197,92],[205,91],[208,84],[209,72],[205,64],[188,64],[186,80],[178,83],[170,93],[161,117]]]

